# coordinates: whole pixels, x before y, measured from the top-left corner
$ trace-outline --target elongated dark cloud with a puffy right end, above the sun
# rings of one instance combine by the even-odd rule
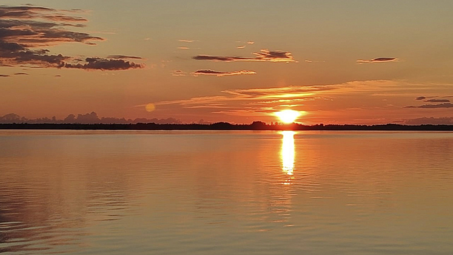
[[[297,62],[290,52],[282,52],[280,50],[269,51],[268,49],[261,49],[260,52],[254,53],[255,58],[244,58],[244,57],[223,57],[223,56],[209,56],[209,55],[197,55],[192,57],[196,60],[211,60],[211,61],[268,61],[268,62]]]

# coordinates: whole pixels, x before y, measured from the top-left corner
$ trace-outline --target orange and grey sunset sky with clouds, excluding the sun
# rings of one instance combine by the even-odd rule
[[[453,123],[453,2],[2,1],[0,116]]]

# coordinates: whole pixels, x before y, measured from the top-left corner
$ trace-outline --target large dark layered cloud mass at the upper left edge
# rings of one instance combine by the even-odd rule
[[[111,55],[107,58],[90,57],[81,60],[63,54],[49,54],[49,50],[41,47],[66,42],[95,45],[94,41],[104,40],[104,38],[87,33],[68,30],[67,27],[85,27],[79,22],[86,22],[87,19],[61,14],[62,12],[80,11],[56,10],[38,6],[0,6],[0,65],[98,70],[125,70],[143,67],[142,64],[124,60],[141,59],[140,57]]]

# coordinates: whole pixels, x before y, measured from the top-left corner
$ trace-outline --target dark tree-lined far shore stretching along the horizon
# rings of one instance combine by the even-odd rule
[[[379,125],[335,125],[316,124],[303,125],[291,124],[266,124],[261,121],[254,121],[251,124],[231,124],[228,122],[217,122],[212,124],[55,124],[55,123],[1,123],[2,130],[325,130],[325,131],[453,131],[453,125],[401,125],[401,124],[379,124]]]

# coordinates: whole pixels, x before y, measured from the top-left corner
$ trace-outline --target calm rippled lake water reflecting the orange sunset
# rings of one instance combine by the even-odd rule
[[[0,253],[453,254],[453,133],[0,131]]]

